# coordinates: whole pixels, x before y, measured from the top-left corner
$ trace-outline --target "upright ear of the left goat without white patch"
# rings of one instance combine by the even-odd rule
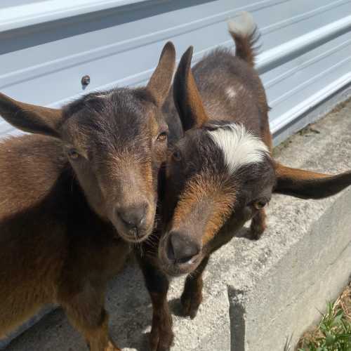
[[[175,66],[176,49],[171,41],[168,41],[161,52],[159,64],[154,70],[149,83],[147,83],[147,90],[150,91],[159,107],[166,100],[169,89],[171,88]]]

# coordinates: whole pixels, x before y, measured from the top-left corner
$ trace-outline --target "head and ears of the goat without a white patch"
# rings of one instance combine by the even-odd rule
[[[167,43],[145,88],[90,93],[62,110],[0,94],[6,121],[61,140],[88,204],[127,241],[142,241],[154,227],[157,176],[166,161],[168,134],[161,105],[174,65],[175,50]]]

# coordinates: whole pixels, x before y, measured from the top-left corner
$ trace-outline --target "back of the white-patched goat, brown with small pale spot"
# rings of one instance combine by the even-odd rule
[[[194,65],[192,72],[210,121],[244,124],[266,141],[269,107],[255,69],[230,50],[219,48]]]

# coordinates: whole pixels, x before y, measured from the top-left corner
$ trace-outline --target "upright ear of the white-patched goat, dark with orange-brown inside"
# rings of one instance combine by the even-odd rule
[[[173,82],[174,103],[185,131],[190,128],[199,128],[208,121],[192,75],[192,51],[193,48],[190,46],[183,54]]]

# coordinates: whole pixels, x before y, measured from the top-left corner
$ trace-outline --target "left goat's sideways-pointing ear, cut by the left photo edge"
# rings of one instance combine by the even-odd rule
[[[59,136],[62,110],[25,104],[0,93],[0,115],[22,131]]]

